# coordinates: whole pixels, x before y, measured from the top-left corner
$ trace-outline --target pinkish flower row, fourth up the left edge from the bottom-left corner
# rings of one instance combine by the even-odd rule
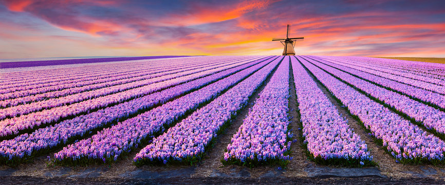
[[[0,101],[0,106],[6,107],[6,106],[16,106],[18,104],[23,103],[29,103],[29,102],[36,102],[45,100],[48,98],[58,98],[58,97],[64,97],[68,95],[73,94],[79,94],[84,91],[90,91],[90,90],[96,90],[100,88],[109,88],[111,86],[115,85],[121,85],[121,84],[127,84],[132,83],[136,81],[142,81],[147,79],[152,79],[156,77],[162,77],[165,75],[170,75],[173,73],[183,72],[187,70],[193,70],[198,69],[202,67],[219,67],[219,66],[225,66],[230,65],[234,63],[239,63],[243,61],[229,61],[229,62],[217,62],[217,64],[210,63],[208,64],[208,61],[199,61],[199,63],[192,63],[192,64],[186,64],[176,67],[162,67],[162,69],[157,70],[145,70],[145,71],[139,71],[139,73],[133,74],[133,75],[117,75],[112,78],[102,78],[99,80],[88,80],[88,81],[82,81],[82,82],[76,82],[76,83],[66,83],[63,85],[54,85],[49,87],[42,87],[42,88],[36,88],[36,89],[29,89],[24,91],[14,91],[12,93],[4,94],[3,97],[0,95],[1,98],[5,98],[6,100]],[[60,83],[64,83],[65,81],[62,81]],[[20,97],[20,98],[16,98]],[[8,99],[8,98],[15,98],[15,99]]]

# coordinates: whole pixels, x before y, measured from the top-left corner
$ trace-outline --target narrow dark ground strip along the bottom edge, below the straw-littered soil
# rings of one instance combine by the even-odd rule
[[[361,178],[228,178],[228,177],[193,177],[193,178],[152,178],[152,179],[124,179],[124,178],[39,178],[39,177],[0,177],[2,184],[443,184],[443,180],[424,178],[388,179],[381,177]]]

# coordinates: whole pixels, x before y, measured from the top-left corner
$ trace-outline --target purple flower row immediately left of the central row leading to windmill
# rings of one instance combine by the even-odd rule
[[[161,160],[193,163],[200,159],[206,146],[216,137],[221,126],[248,102],[269,73],[282,60],[280,57],[254,75],[229,89],[208,105],[177,123],[163,135],[153,139],[134,158],[136,164]]]

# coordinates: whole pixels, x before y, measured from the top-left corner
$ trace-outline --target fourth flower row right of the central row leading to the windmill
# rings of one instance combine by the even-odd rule
[[[340,69],[342,71],[348,72],[351,75],[360,77],[364,80],[368,80],[370,82],[379,84],[383,87],[390,88],[394,91],[398,91],[404,95],[413,97],[415,99],[418,99],[420,101],[423,101],[425,103],[431,104],[435,107],[445,108],[445,96],[440,95],[438,93],[434,93],[429,90],[425,90],[422,88],[414,87],[411,85],[406,85],[397,81],[389,80],[386,78],[378,77],[360,70],[356,70],[353,68],[345,67],[342,65],[338,65],[335,63],[332,63],[329,59],[324,59],[320,61],[323,64],[335,67],[337,69]]]

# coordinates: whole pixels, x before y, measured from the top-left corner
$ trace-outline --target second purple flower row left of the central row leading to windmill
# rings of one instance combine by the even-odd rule
[[[235,73],[137,117],[106,128],[91,138],[68,145],[62,151],[54,154],[54,161],[62,164],[115,161],[122,154],[138,147],[139,144],[161,134],[178,119],[193,112],[203,103],[217,97],[222,91],[242,81],[271,60],[273,59],[268,59],[259,65]],[[273,65],[273,63],[268,66],[270,65]],[[265,68],[270,68],[268,66],[255,72],[251,78],[256,78],[259,73],[265,72]]]

